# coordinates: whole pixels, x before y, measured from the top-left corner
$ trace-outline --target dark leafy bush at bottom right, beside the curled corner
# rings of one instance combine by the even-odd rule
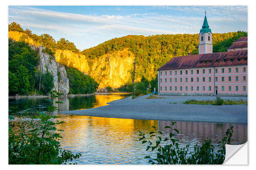
[[[163,136],[163,133],[158,131],[156,127],[154,131],[150,132],[150,138],[156,138],[156,144],[153,144],[149,139],[146,139],[145,134],[139,132],[143,143],[147,143],[147,150],[155,151],[157,153],[156,158],[152,158],[150,155],[144,157],[148,159],[148,163],[152,164],[222,164],[225,159],[225,144],[230,144],[232,141],[233,126],[227,129],[222,141],[218,142],[219,150],[214,152],[214,145],[210,139],[205,140],[201,147],[198,143],[194,146],[194,152],[188,152],[189,144],[185,147],[181,147],[179,140],[175,135],[179,134],[179,130],[174,129],[173,126],[176,122],[172,122],[171,126],[166,126],[166,129],[170,130],[168,137]],[[161,143],[164,142],[164,143]]]

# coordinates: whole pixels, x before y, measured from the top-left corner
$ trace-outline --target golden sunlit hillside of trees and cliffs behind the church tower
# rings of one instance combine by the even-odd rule
[[[214,33],[213,51],[226,51],[233,41],[244,36],[247,32]],[[99,88],[118,88],[131,83],[134,64],[135,80],[144,77],[151,81],[156,78],[157,69],[173,57],[198,54],[199,44],[198,34],[128,35],[80,52],[74,43],[64,38],[56,41],[48,34],[37,36],[16,23],[9,25],[9,37],[46,46],[55,53],[56,61],[90,75]]]

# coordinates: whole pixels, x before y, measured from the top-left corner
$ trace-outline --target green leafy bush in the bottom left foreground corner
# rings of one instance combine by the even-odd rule
[[[54,122],[53,119],[57,116],[50,116],[57,110],[57,107],[53,106],[53,99],[59,95],[57,91],[50,92],[51,99],[46,99],[49,102],[48,113],[37,111],[38,116],[34,118],[38,121],[31,120],[33,128],[29,133],[16,135],[9,126],[9,164],[66,164],[81,156],[60,148],[61,136],[56,133],[60,130],[57,130],[56,126],[64,122]],[[38,126],[35,126],[36,124]]]

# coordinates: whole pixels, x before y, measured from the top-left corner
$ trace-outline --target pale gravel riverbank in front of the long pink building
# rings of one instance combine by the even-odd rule
[[[149,95],[110,102],[107,106],[86,110],[61,111],[59,113],[115,117],[131,119],[177,120],[196,122],[247,124],[247,105],[187,105],[183,102],[215,100],[216,96],[163,96],[161,99],[146,99]],[[224,100],[245,100],[246,96],[222,96]]]

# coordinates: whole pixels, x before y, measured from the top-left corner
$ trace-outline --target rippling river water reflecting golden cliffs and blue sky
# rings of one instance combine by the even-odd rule
[[[91,96],[76,96],[74,98],[59,98],[63,104],[58,105],[58,111],[78,110],[104,106],[106,103],[125,98],[129,94],[112,93],[108,95],[96,94]],[[47,102],[44,99],[9,99],[9,108],[16,109],[14,129],[29,129],[28,115],[35,110],[45,111]],[[78,164],[147,164],[143,159],[152,153],[145,151],[146,144],[139,141],[139,132],[145,134],[152,131],[152,126],[157,127],[164,135],[168,131],[164,128],[170,125],[166,120],[139,120],[123,118],[105,118],[79,115],[66,115],[54,113],[60,116],[59,120],[65,121],[58,125],[61,147],[82,156],[76,160]],[[247,141],[247,125],[232,124],[234,127],[233,143],[241,144]],[[178,121],[175,128],[180,131],[177,138],[181,145],[190,144],[190,150],[198,142],[199,144],[209,138],[213,143],[221,140],[229,124],[184,122]],[[155,141],[154,139],[152,141]]]

